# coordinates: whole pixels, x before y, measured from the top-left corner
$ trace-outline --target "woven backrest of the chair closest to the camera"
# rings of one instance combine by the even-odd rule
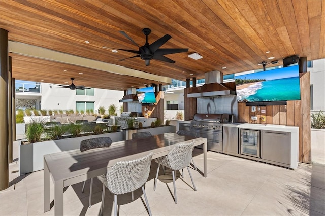
[[[125,194],[143,186],[149,177],[152,152],[132,161],[117,162],[107,172],[107,188],[113,194]]]

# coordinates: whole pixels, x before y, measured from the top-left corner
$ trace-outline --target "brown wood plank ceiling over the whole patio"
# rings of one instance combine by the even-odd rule
[[[324,26],[325,0],[4,0],[0,4],[0,28],[9,31],[10,41],[183,81],[204,78],[212,70],[233,74],[259,69],[262,61],[278,60],[276,65],[281,65],[283,58],[296,54],[308,60],[325,58]],[[119,61],[134,54],[112,49],[139,49],[119,31],[142,46],[143,28],[152,30],[149,43],[170,34],[161,48],[189,51],[168,55],[174,64],[151,60],[145,66],[140,58]],[[203,58],[187,57],[194,52]],[[18,80],[67,84],[74,77],[76,85],[105,89],[165,84],[136,74],[10,56]]]

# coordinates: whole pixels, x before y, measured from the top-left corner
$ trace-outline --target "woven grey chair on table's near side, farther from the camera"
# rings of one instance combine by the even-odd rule
[[[154,182],[153,190],[156,190],[157,182],[158,182],[158,173],[160,164],[166,166],[167,168],[172,170],[173,175],[173,185],[174,185],[174,196],[175,196],[175,203],[177,203],[177,196],[176,196],[176,186],[175,186],[175,173],[176,170],[184,169],[185,167],[188,170],[189,176],[191,178],[194,191],[197,191],[197,188],[194,185],[194,181],[192,175],[189,171],[189,163],[191,162],[191,155],[193,149],[194,141],[190,143],[181,143],[177,144],[174,149],[172,149],[168,155],[156,158],[154,161],[158,163],[157,174]]]

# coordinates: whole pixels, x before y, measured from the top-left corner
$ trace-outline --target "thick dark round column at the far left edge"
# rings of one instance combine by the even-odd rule
[[[0,191],[8,187],[8,31],[0,28]]]

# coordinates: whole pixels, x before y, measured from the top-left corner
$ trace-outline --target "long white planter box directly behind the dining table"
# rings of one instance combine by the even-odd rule
[[[123,140],[122,131],[100,135],[50,140],[21,145],[19,141],[19,175],[44,169],[44,155],[79,149],[80,142],[95,137],[110,137],[113,142]]]

